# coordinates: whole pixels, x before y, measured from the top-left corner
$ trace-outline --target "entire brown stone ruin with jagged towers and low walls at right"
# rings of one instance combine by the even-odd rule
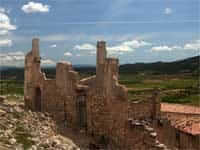
[[[27,109],[49,112],[59,124],[85,131],[108,149],[161,150],[167,148],[159,140],[171,148],[180,143],[169,134],[160,138],[157,133],[171,129],[168,122],[163,125],[158,93],[148,101],[128,101],[126,87],[118,83],[119,61],[107,58],[104,41],[97,42],[96,75],[82,80],[66,61],[57,63],[55,79],[46,78],[39,53],[39,39],[33,39],[25,58]]]

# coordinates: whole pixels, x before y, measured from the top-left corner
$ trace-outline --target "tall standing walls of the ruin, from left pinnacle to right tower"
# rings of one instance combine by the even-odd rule
[[[118,59],[107,58],[106,43],[100,41],[97,43],[96,76],[79,81],[78,73],[73,71],[70,63],[59,62],[56,78],[47,79],[40,68],[39,40],[33,39],[32,50],[25,60],[25,104],[29,109],[49,112],[59,123],[73,128],[80,128],[80,117],[84,117],[80,111],[85,110],[81,113],[86,115],[82,119],[86,119],[85,130],[89,134],[97,141],[103,138],[104,142],[124,147],[128,134],[138,134],[143,138],[144,133],[127,128],[130,104],[127,89],[118,83],[118,65]],[[80,97],[84,109],[78,108]],[[40,108],[37,108],[37,103],[41,103]],[[152,105],[147,108],[145,115],[152,108]],[[134,140],[128,145],[131,143],[135,143]]]

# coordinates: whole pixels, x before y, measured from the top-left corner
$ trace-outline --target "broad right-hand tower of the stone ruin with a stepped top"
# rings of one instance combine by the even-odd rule
[[[90,85],[87,92],[88,132],[99,140],[104,137],[119,143],[124,138],[128,114],[126,88],[118,84],[118,60],[106,57],[105,42],[98,42],[97,55],[100,58],[97,57],[95,79],[82,81]]]

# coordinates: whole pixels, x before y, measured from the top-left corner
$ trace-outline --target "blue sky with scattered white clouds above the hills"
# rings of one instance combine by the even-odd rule
[[[43,64],[95,64],[105,40],[120,63],[199,54],[199,0],[0,0],[1,65],[23,64],[33,37]]]

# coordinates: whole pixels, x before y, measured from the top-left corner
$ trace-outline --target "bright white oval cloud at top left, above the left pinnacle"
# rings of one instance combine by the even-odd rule
[[[21,8],[25,13],[46,13],[49,12],[50,6],[44,5],[42,3],[36,3],[36,2],[29,2],[28,4],[25,4]]]

